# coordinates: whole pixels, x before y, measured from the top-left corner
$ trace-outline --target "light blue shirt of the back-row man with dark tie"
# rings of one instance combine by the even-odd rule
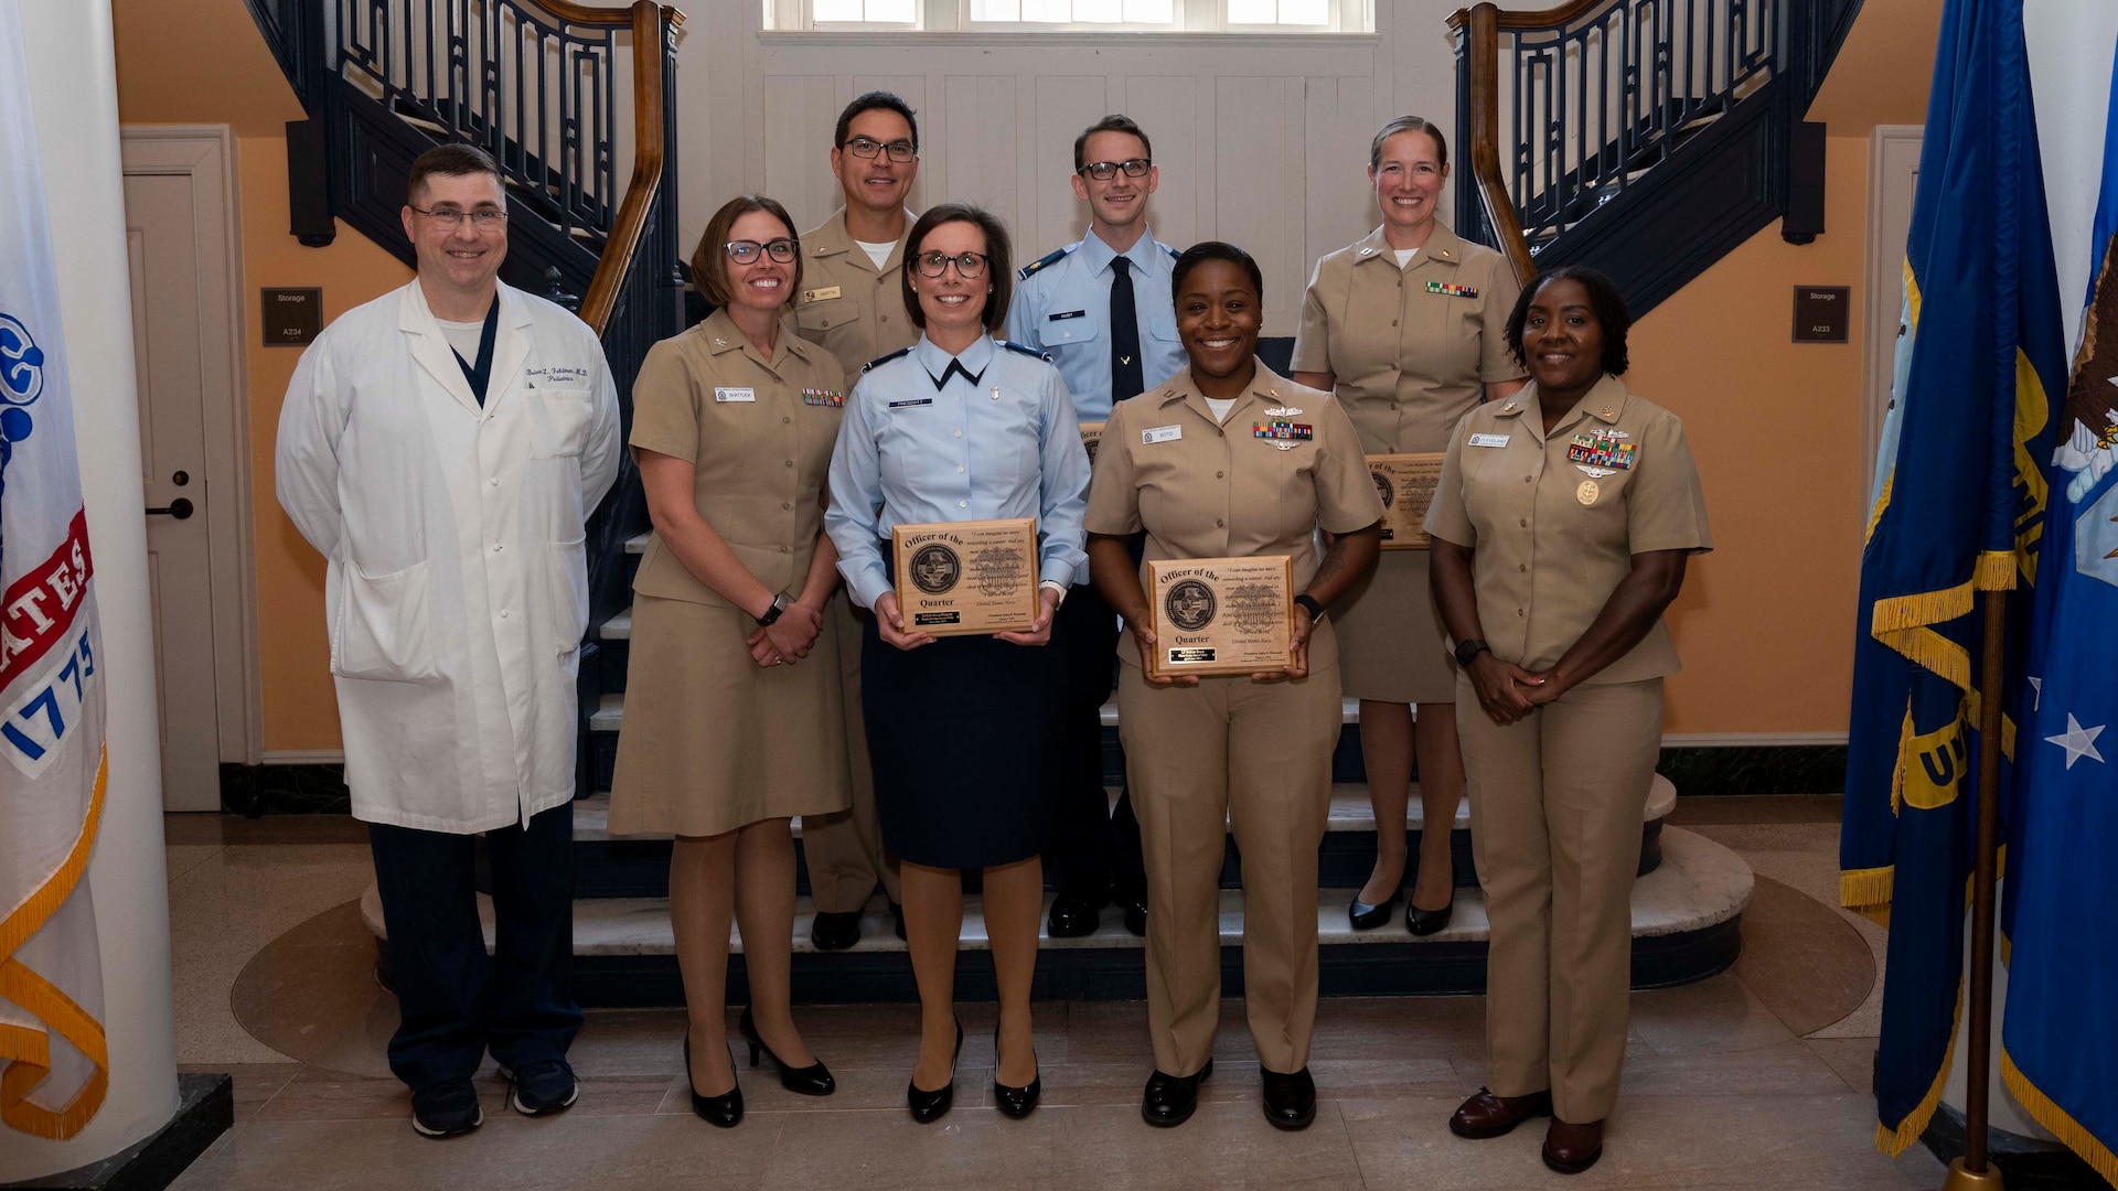
[[[1110,261],[1118,256],[1097,233],[1023,265],[1008,305],[1008,341],[1036,348],[1059,365],[1074,411],[1084,422],[1110,417]],[[1169,301],[1169,269],[1178,250],[1142,233],[1125,252],[1133,263],[1133,312],[1139,316],[1139,377],[1148,390],[1190,362],[1178,343]],[[1142,392],[1148,392],[1142,390]],[[1137,396],[1137,394],[1125,394]]]

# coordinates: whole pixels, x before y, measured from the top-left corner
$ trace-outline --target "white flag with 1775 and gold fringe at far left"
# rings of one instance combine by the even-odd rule
[[[110,1066],[85,877],[106,774],[93,574],[21,21],[0,0],[0,1127],[40,1138],[95,1117]]]

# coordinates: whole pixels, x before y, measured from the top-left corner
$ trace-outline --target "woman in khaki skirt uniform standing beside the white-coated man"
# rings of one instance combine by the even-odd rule
[[[654,536],[633,579],[633,651],[610,831],[674,833],[669,924],[690,1011],[693,1110],[743,1117],[724,1038],[729,918],[743,932],[750,1062],[828,1096],[788,1009],[794,816],[847,805],[824,473],[845,371],[794,337],[801,242],[773,199],[731,199],[693,275],[718,305],[633,384],[633,456]],[[805,663],[815,653],[813,663]],[[707,1091],[701,1091],[707,1089]]]

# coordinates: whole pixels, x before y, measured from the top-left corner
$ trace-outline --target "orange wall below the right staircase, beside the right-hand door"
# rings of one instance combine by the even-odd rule
[[[1790,343],[1794,286],[1862,307],[1868,140],[1828,138],[1830,229],[1764,229],[1633,328],[1627,386],[1684,420],[1713,526],[1669,621],[1669,731],[1843,731],[1862,534],[1862,326]]]

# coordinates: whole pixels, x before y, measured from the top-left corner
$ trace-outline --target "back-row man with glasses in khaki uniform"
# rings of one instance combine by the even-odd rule
[[[919,341],[900,290],[904,233],[913,225],[904,199],[919,176],[919,123],[911,104],[890,91],[868,91],[847,104],[832,129],[830,172],[839,178],[845,206],[801,237],[805,261],[794,326],[803,339],[837,356],[851,377],[868,360]],[[832,598],[830,615],[841,617],[839,640],[851,642],[841,648],[839,672],[854,805],[839,814],[803,816],[801,824],[815,903],[809,941],[820,952],[860,941],[860,911],[875,894],[875,882],[883,884],[898,937],[904,937],[896,863],[883,854],[875,820],[875,778],[860,710],[860,623],[843,593]]]

